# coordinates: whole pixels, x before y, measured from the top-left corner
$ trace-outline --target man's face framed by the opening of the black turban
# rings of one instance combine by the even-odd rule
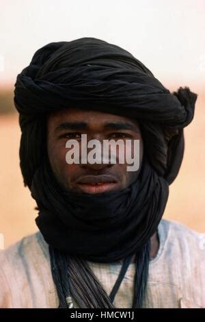
[[[66,148],[66,142],[75,139],[81,147],[81,134],[87,134],[87,142],[92,139],[100,143],[111,139],[131,140],[132,151],[134,140],[139,140],[141,165],[143,142],[137,121],[92,110],[61,110],[48,118],[47,149],[51,168],[62,187],[79,193],[102,193],[126,188],[137,179],[140,166],[138,171],[127,171],[130,164],[126,160],[124,164],[68,164],[66,153],[69,149]]]

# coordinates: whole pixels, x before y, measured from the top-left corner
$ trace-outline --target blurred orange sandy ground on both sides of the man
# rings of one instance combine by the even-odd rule
[[[195,119],[184,131],[185,153],[180,173],[170,186],[164,218],[205,232],[205,97],[198,97]],[[17,114],[0,115],[0,233],[8,247],[37,230],[35,202],[23,186],[18,148]],[[1,243],[1,238],[0,238]],[[0,245],[1,246],[1,245]]]

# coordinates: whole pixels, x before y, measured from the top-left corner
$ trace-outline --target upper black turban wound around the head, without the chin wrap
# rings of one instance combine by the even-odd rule
[[[189,88],[171,94],[131,53],[102,40],[81,38],[42,47],[18,75],[14,97],[25,184],[31,187],[43,156],[44,117],[68,107],[142,121],[150,162],[170,184],[180,168],[182,129],[193,119],[196,97]]]

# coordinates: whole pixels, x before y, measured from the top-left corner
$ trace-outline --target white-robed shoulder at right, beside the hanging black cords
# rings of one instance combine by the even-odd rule
[[[162,308],[178,307],[180,299],[205,307],[205,234],[164,219],[158,233],[159,252],[150,262],[153,301],[158,299]],[[162,296],[155,299],[156,289]]]

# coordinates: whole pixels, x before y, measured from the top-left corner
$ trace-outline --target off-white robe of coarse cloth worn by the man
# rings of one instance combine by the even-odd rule
[[[143,308],[205,308],[205,234],[171,221],[158,227],[159,251],[150,260]],[[121,264],[88,262],[109,294]],[[115,308],[131,308],[135,264],[115,296]],[[49,247],[37,232],[0,253],[0,308],[57,308]],[[78,308],[74,301],[74,308]]]

